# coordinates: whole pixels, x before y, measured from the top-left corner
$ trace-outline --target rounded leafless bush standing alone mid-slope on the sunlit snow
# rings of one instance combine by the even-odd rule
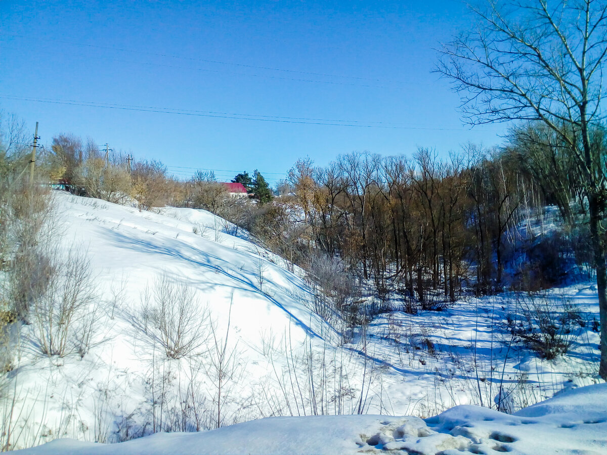
[[[209,311],[200,305],[186,281],[175,282],[166,273],[152,292],[142,297],[137,325],[160,343],[166,356],[181,359],[205,345],[209,334]]]

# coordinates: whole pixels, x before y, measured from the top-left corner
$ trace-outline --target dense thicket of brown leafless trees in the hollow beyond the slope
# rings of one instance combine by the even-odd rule
[[[535,244],[512,237],[512,226],[538,213],[547,197],[525,146],[491,154],[469,147],[465,160],[464,154],[441,160],[429,149],[412,158],[350,153],[327,167],[301,160],[290,173],[300,257],[313,251],[339,257],[371,280],[380,298],[397,291],[424,309],[454,302],[466,289],[554,285],[562,269],[514,262],[520,254],[531,257]],[[559,184],[572,194],[571,182]],[[554,259],[565,268],[574,258]]]

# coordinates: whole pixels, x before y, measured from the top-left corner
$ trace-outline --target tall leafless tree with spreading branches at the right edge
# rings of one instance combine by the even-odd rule
[[[603,0],[487,1],[475,28],[441,49],[438,72],[461,93],[470,124],[541,121],[557,134],[588,200],[601,322],[599,374],[607,379],[607,206],[604,114],[607,3]]]

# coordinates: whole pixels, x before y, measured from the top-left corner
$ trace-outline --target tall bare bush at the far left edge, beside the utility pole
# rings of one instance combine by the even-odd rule
[[[23,121],[0,111],[1,373],[15,366],[21,321],[27,320],[33,298],[46,289],[38,245],[44,241],[52,206],[48,189],[39,184],[43,169],[36,167],[30,178],[28,136]]]

